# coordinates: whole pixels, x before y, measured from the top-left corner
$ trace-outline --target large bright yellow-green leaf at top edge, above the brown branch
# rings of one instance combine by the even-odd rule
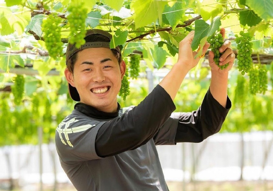
[[[159,17],[162,20],[162,12],[166,4],[167,1],[157,0],[136,0],[133,2],[131,7],[135,11],[134,21],[136,28],[149,25]]]

